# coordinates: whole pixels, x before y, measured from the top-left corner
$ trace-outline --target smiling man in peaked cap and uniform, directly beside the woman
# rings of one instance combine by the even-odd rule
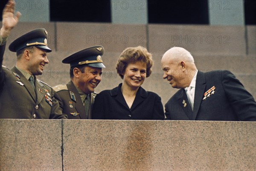
[[[96,93],[94,89],[101,81],[104,48],[93,46],[65,58],[62,63],[70,64],[70,79],[53,89],[57,92],[63,113],[68,119],[91,119],[91,109]]]

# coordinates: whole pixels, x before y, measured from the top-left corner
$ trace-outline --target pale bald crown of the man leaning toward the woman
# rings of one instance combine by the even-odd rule
[[[182,47],[172,47],[163,54],[162,60],[172,60],[176,62],[185,61],[194,63],[194,58],[189,51]]]

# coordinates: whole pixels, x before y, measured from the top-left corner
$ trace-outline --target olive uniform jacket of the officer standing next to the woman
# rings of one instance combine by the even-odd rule
[[[63,113],[67,113],[68,119],[91,119],[91,109],[96,93],[90,93],[89,115],[87,116],[81,97],[72,81],[52,88],[57,92],[55,98],[59,101]]]

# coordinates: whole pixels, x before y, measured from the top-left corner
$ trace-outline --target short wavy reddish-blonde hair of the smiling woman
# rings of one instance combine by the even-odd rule
[[[142,62],[146,64],[146,77],[152,72],[153,60],[151,53],[143,46],[128,47],[126,48],[118,58],[116,63],[116,70],[120,77],[123,79],[126,67],[130,63]]]

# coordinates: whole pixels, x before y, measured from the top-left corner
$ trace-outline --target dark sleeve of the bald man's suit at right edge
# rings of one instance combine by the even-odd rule
[[[256,102],[230,71],[221,74],[227,99],[241,121],[256,121]]]

